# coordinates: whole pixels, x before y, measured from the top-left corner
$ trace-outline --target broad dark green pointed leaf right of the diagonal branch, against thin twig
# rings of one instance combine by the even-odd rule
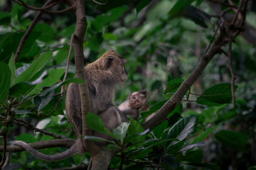
[[[234,86],[234,90],[236,91],[238,86]],[[221,83],[217,84],[210,89],[205,90],[205,92],[201,95],[206,100],[212,101],[218,104],[226,104],[230,103],[231,96],[231,84],[230,83]]]

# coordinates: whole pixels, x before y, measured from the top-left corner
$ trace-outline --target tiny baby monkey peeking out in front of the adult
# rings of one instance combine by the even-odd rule
[[[135,120],[138,120],[141,108],[145,111],[148,108],[147,104],[148,91],[135,91],[131,92],[129,95],[130,100],[124,101],[118,108],[122,111],[124,115],[130,115]]]

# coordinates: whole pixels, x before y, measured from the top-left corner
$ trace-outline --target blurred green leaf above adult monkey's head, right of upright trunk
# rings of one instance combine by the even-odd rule
[[[100,31],[102,27],[104,27],[105,25],[108,25],[110,22],[113,22],[120,18],[123,15],[123,13],[127,10],[129,10],[129,7],[120,6],[112,10],[109,10],[106,14],[101,14],[97,16],[92,21],[92,28],[95,31]]]

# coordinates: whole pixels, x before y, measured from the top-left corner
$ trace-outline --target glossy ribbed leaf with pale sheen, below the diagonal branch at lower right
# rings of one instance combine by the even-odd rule
[[[198,122],[198,115],[189,115],[187,117],[182,118],[179,122],[174,124],[172,128],[169,130],[166,139],[176,138],[178,140],[183,140],[188,137],[191,133],[193,133],[196,129]],[[173,142],[166,142],[167,148],[177,143],[176,141]]]

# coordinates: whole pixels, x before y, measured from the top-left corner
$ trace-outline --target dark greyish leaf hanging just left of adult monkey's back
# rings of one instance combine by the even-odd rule
[[[51,90],[44,96],[36,96],[34,98],[35,109],[41,111],[50,101],[53,99],[55,94],[54,90]]]

